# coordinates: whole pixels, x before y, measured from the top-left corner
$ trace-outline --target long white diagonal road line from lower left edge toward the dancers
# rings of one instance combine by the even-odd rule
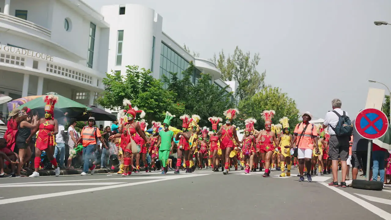
[[[160,181],[171,180],[171,179],[181,179],[181,178],[187,178],[187,177],[200,177],[200,176],[205,176],[205,175],[210,175],[210,174],[172,175],[170,177],[168,176],[165,179],[148,180],[148,181],[142,181],[142,182],[131,182],[131,183],[127,183],[127,184],[101,186],[101,187],[97,187],[97,188],[78,189],[78,190],[72,190],[72,191],[48,193],[48,194],[33,195],[33,196],[26,196],[26,197],[7,198],[7,199],[0,200],[0,205],[14,203],[14,202],[24,202],[24,201],[29,201],[29,200],[36,200],[36,199],[41,199],[41,198],[73,195],[73,194],[78,194],[78,193],[88,193],[88,192],[92,192],[92,191],[100,191],[100,190],[104,190],[104,189],[114,189],[114,188],[120,188],[120,187],[125,187],[125,186],[135,186],[135,185],[140,185],[140,184],[154,183],[154,182],[160,182]]]

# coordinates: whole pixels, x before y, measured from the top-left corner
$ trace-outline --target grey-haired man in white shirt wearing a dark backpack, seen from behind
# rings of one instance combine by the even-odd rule
[[[323,128],[328,128],[330,134],[328,157],[332,160],[333,181],[329,186],[341,186],[346,188],[346,174],[348,166],[346,160],[349,157],[349,141],[353,132],[353,126],[347,112],[341,109],[341,100],[333,99],[332,111],[327,112]],[[338,184],[338,159],[341,160],[342,179]]]

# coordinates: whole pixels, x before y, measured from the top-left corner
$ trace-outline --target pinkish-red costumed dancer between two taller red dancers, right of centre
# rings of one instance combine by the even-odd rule
[[[253,118],[249,118],[246,119],[244,123],[246,124],[246,129],[244,130],[244,137],[242,139],[242,152],[244,161],[246,162],[246,168],[244,169],[244,173],[249,173],[250,168],[253,165],[253,161],[250,160],[250,156],[256,148],[255,137],[254,135],[252,135],[256,120]]]

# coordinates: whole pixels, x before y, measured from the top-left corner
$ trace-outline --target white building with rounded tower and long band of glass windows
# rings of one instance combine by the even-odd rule
[[[227,86],[214,63],[193,57],[162,31],[163,18],[153,9],[137,4],[106,5],[101,13],[110,25],[108,72],[125,72],[127,65],[138,65],[151,69],[156,79],[162,75],[170,77],[169,72],[177,72],[181,79],[181,72],[192,61],[197,68],[193,83],[202,72],[210,74],[211,83],[220,88]],[[228,88],[228,92],[232,90],[235,89]]]

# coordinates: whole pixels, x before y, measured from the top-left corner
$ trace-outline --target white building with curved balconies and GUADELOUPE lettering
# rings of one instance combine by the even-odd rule
[[[0,93],[94,103],[108,67],[101,14],[81,0],[0,0],[0,12]]]

